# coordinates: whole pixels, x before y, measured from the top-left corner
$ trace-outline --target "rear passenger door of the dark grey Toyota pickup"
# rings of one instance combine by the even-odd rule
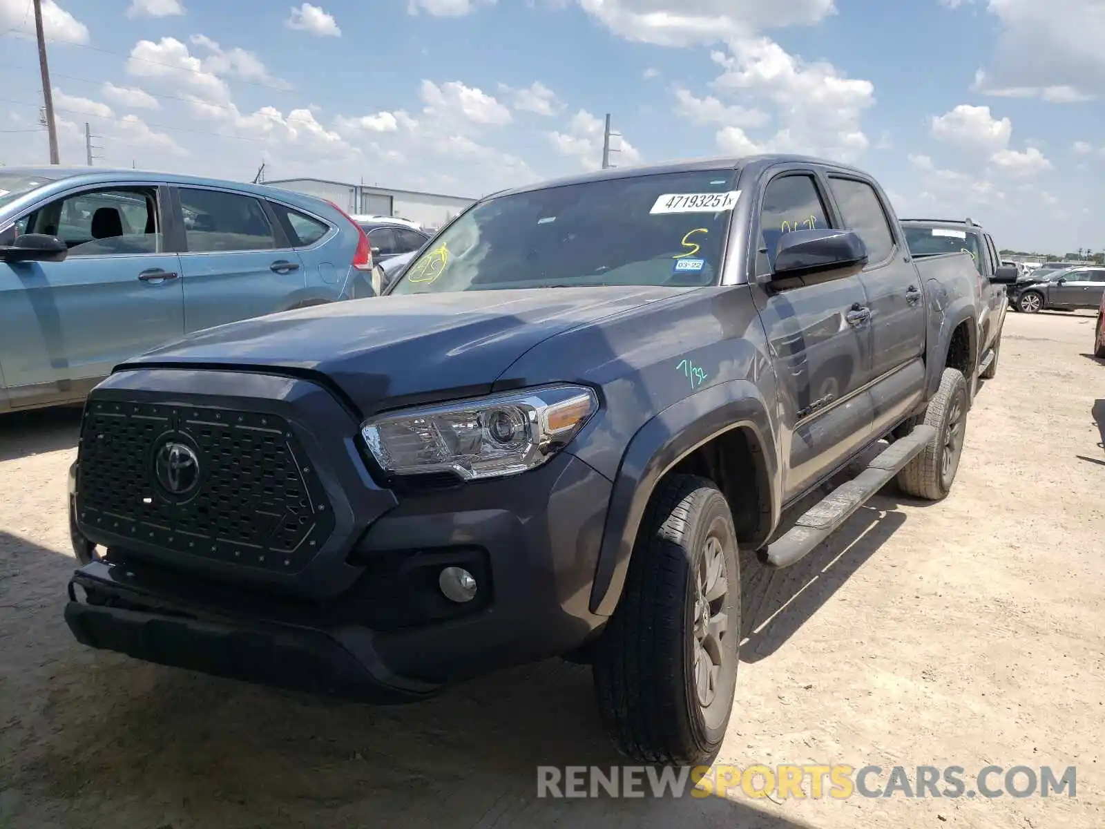
[[[893,427],[924,391],[924,287],[885,197],[861,177],[833,172],[828,179],[843,225],[854,230],[867,248],[860,281],[871,312],[866,382],[877,436]]]

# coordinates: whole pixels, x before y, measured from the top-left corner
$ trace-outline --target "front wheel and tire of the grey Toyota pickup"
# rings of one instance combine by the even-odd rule
[[[724,594],[701,601],[711,562],[722,568]],[[739,660],[739,566],[733,516],[717,486],[694,475],[662,481],[645,511],[621,600],[593,651],[599,712],[625,756],[696,765],[720,747]],[[716,637],[702,639],[706,630]],[[702,657],[717,671],[703,673],[712,678],[712,693],[706,688],[701,697]]]

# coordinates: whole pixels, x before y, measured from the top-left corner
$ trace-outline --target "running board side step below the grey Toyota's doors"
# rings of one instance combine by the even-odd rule
[[[891,482],[936,436],[930,426],[918,424],[898,438],[867,464],[859,475],[845,481],[806,511],[790,529],[757,552],[760,564],[772,569],[790,567],[836,532],[852,513]]]

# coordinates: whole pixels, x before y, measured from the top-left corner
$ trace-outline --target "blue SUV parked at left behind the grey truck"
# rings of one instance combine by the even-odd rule
[[[80,402],[185,334],[372,294],[364,230],[271,187],[0,169],[0,412]]]

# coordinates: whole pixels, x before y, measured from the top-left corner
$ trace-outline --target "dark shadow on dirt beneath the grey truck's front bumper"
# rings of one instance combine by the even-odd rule
[[[81,648],[62,619],[73,559],[3,532],[0,552],[0,825],[810,829],[688,794],[538,798],[538,766],[624,762],[588,668],[394,707],[278,692]]]

